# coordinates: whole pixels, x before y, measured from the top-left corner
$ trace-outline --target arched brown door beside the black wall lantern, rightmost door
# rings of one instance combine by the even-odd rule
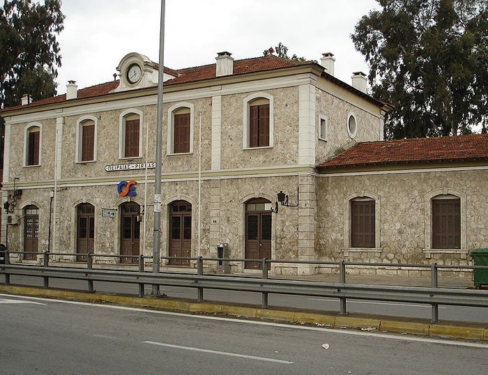
[[[268,199],[254,198],[245,204],[245,259],[271,258],[271,213],[265,208],[270,203]],[[262,263],[247,261],[245,268],[261,270]]]

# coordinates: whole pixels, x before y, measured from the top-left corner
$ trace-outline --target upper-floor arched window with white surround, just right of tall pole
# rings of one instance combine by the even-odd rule
[[[168,110],[168,153],[193,152],[193,112],[191,103],[178,103]]]

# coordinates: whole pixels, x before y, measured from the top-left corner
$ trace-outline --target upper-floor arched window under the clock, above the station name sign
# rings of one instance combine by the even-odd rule
[[[142,148],[142,112],[135,109],[121,114],[120,122],[120,158],[139,158]]]

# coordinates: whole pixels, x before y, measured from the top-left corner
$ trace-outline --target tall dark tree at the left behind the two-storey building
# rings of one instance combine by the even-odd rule
[[[61,66],[56,34],[63,30],[61,0],[5,0],[0,7],[0,108],[56,95]]]

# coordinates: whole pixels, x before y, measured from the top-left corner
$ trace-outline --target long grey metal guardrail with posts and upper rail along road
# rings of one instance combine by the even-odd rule
[[[43,277],[44,287],[49,288],[49,278],[86,280],[88,291],[94,292],[93,282],[121,282],[139,285],[139,296],[144,296],[144,285],[180,286],[197,289],[197,301],[204,301],[204,289],[220,289],[229,291],[248,291],[261,293],[261,307],[268,307],[268,294],[285,294],[299,296],[319,296],[337,298],[340,300],[340,314],[347,314],[346,300],[382,300],[403,303],[420,303],[432,306],[432,322],[439,322],[439,305],[457,305],[471,307],[488,307],[488,291],[471,289],[448,289],[438,285],[438,270],[445,268],[485,268],[488,266],[438,266],[432,265],[407,265],[385,263],[346,263],[317,262],[317,261],[278,261],[269,259],[225,259],[225,258],[183,258],[162,257],[164,259],[185,259],[197,262],[197,275],[183,273],[148,273],[144,272],[144,257],[111,255],[107,257],[137,258],[137,271],[121,271],[93,269],[93,257],[106,257],[99,254],[43,254],[43,266],[25,266],[9,264],[9,254],[5,253],[6,264],[0,265],[0,274],[5,275],[6,284],[10,284],[10,275],[24,275]],[[61,268],[49,266],[49,257],[52,255],[84,255],[86,256],[86,268]],[[262,276],[257,277],[226,277],[225,275],[204,275],[204,261],[252,261],[261,262]],[[339,268],[339,282],[312,282],[301,280],[277,280],[268,279],[268,263],[310,263]],[[346,264],[353,266],[402,266],[430,268],[432,271],[432,286],[395,286],[395,285],[371,285],[346,283]]]

